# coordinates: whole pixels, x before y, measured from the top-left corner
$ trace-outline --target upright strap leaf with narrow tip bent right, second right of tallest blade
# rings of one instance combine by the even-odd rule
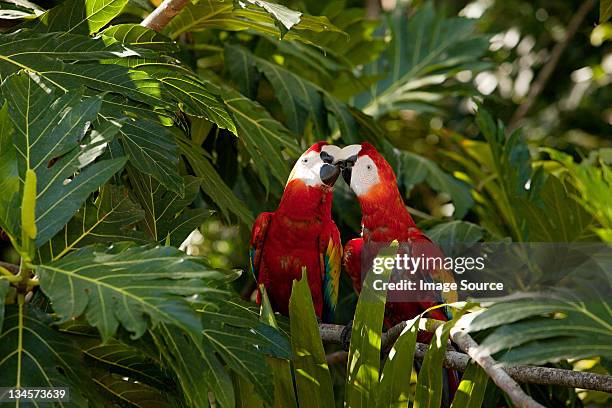
[[[423,365],[417,378],[414,408],[438,408],[442,402],[443,373],[442,362],[446,354],[448,336],[459,318],[465,314],[462,309],[455,314],[453,320],[444,323],[436,329],[434,338],[429,344],[427,353],[423,358]]]

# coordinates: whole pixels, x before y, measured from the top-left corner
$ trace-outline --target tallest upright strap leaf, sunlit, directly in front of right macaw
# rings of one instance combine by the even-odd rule
[[[397,245],[379,251],[377,257],[387,259],[397,254]],[[383,262],[383,265],[385,262]],[[357,301],[351,345],[348,356],[345,404],[350,407],[368,407],[376,402],[380,372],[381,331],[385,316],[387,292],[376,290],[374,282],[388,282],[392,268],[383,268],[380,274],[368,271]],[[406,377],[409,379],[410,377]]]

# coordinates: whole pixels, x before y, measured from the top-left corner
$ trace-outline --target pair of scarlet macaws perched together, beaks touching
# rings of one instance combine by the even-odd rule
[[[344,251],[331,216],[332,189],[340,174],[357,195],[363,229],[362,236],[348,241]],[[251,234],[251,268],[258,283],[265,286],[274,310],[287,315],[292,282],[301,278],[305,267],[316,314],[323,322],[330,322],[338,299],[341,264],[359,293],[362,260],[371,259],[362,256],[363,248],[394,240],[408,244],[413,256],[442,256],[416,227],[393,169],[374,146],[362,143],[341,149],[319,142],[296,162],[278,209],[257,217]],[[421,273],[437,281],[452,279],[445,270]],[[392,326],[411,319],[436,303],[431,299],[390,301],[385,323]],[[440,320],[449,317],[443,309],[429,315]]]

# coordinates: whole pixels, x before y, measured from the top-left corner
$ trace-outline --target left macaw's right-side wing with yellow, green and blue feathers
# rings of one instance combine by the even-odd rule
[[[342,265],[342,242],[340,231],[331,221],[319,238],[319,254],[322,272],[323,321],[331,322],[338,303],[340,270]]]

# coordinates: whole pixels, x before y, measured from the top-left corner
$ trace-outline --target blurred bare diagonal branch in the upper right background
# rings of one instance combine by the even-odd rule
[[[580,24],[582,24],[582,21],[586,18],[589,11],[591,11],[591,9],[595,6],[596,2],[596,0],[586,0],[582,3],[576,14],[574,14],[574,17],[572,17],[567,26],[567,31],[563,37],[563,40],[555,44],[551,52],[550,59],[538,73],[538,77],[529,89],[529,94],[525,98],[524,102],[521,103],[518,108],[516,108],[514,115],[512,115],[509,125],[510,129],[516,128],[521,119],[523,119],[529,109],[531,109],[531,106],[534,104],[536,98],[538,95],[540,95],[544,89],[544,86],[548,82],[548,79],[557,67],[557,64],[559,63],[561,55],[563,54],[563,51],[565,51],[567,44],[574,37],[578,31],[578,28],[580,27]]]

